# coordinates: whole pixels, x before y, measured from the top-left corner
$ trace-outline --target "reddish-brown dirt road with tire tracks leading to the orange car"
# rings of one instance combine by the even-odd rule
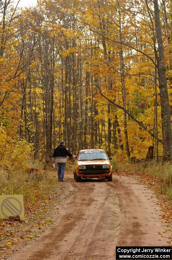
[[[76,183],[67,175],[61,185],[65,188],[54,225],[9,259],[114,260],[115,246],[169,245],[155,196],[132,177]]]

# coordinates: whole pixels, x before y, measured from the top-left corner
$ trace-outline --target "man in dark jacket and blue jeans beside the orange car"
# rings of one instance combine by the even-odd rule
[[[55,147],[52,159],[52,162],[54,163],[56,158],[58,167],[58,181],[64,181],[63,178],[67,162],[66,156],[69,156],[71,159],[76,157],[75,155],[71,154],[68,148],[65,147],[65,141],[61,141],[60,145]]]

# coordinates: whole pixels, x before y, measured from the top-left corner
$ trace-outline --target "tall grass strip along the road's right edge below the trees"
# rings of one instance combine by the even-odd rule
[[[124,164],[118,162],[118,170],[124,169]],[[142,178],[149,179],[149,184],[154,185],[159,194],[172,199],[172,162],[125,163],[125,172],[139,174]]]

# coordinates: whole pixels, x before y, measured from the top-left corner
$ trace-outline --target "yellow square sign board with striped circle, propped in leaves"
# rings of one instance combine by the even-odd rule
[[[17,215],[20,216],[21,220],[24,220],[23,195],[1,195],[0,219]]]

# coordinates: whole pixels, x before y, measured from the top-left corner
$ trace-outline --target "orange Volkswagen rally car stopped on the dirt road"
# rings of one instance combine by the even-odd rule
[[[75,161],[74,179],[103,178],[112,181],[112,158],[107,156],[102,149],[80,150]]]

